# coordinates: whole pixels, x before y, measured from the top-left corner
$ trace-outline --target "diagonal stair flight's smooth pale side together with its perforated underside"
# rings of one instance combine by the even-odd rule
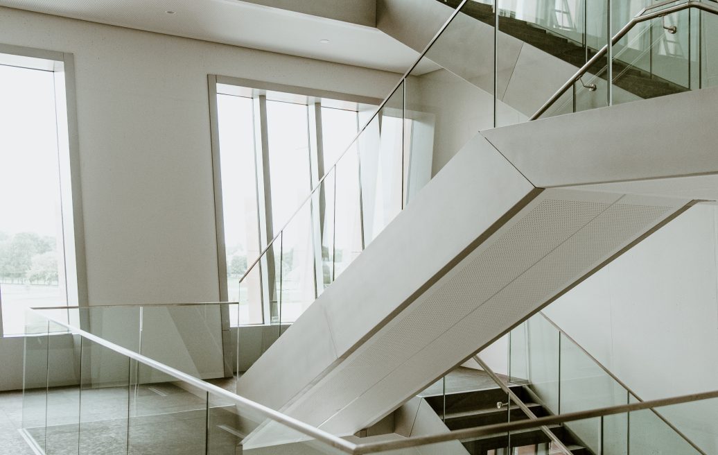
[[[688,202],[541,191],[477,135],[241,377],[238,393],[354,433]],[[251,440],[273,433],[266,426]]]

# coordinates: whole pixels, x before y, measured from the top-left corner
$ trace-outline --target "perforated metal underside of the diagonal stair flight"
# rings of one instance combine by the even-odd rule
[[[287,412],[340,433],[368,425],[685,202],[546,190]]]

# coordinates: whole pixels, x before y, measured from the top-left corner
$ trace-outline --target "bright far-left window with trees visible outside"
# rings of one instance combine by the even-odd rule
[[[80,300],[66,55],[47,53],[55,58],[0,54],[3,335],[24,334],[25,308],[78,305]]]

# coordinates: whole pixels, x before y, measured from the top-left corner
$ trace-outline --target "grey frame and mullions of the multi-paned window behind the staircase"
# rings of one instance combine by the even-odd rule
[[[253,98],[255,101],[255,115],[259,115],[259,121],[255,123],[256,134],[255,137],[261,137],[262,142],[266,142],[267,138],[267,122],[266,122],[266,101],[284,101],[294,104],[304,104],[308,109],[308,121],[309,121],[309,149],[310,149],[310,180],[311,188],[317,185],[318,180],[322,177],[323,170],[323,155],[322,155],[322,131],[321,124],[317,122],[317,113],[320,107],[329,107],[342,109],[342,104],[351,104],[355,106],[358,111],[358,118],[360,119],[362,112],[365,111],[376,111],[376,107],[381,104],[380,98],[372,98],[368,96],[351,95],[348,93],[340,93],[334,91],[325,91],[315,88],[307,88],[301,86],[289,86],[280,83],[269,83],[264,81],[254,81],[251,79],[235,78],[222,75],[208,75],[208,98],[209,98],[209,109],[210,109],[210,138],[212,148],[212,164],[213,164],[213,181],[214,181],[214,196],[215,196],[215,232],[217,242],[217,268],[218,268],[218,291],[221,302],[228,302],[228,286],[227,286],[227,260],[226,260],[226,246],[225,246],[225,232],[224,232],[224,213],[223,213],[223,197],[222,197],[222,181],[221,181],[221,163],[220,163],[220,136],[219,136],[219,119],[218,119],[218,85],[233,86],[236,88],[237,96],[244,96],[246,98]],[[234,93],[233,93],[234,94]],[[328,104],[322,103],[322,101],[332,102]],[[344,107],[343,109],[347,109]],[[262,117],[265,117],[264,119]],[[361,125],[358,125],[360,127]],[[266,147],[267,144],[255,144],[256,149],[261,149],[261,154],[264,160],[267,159],[266,155],[269,150]],[[263,160],[263,162],[264,162]],[[258,173],[268,172],[268,169],[257,170]],[[260,185],[264,185],[264,188],[257,188],[258,191],[266,193],[270,188],[266,188],[269,180],[262,178]],[[310,188],[310,189],[311,189]],[[260,201],[259,205],[263,203],[264,198],[258,196]],[[266,210],[266,207],[260,207],[260,210]],[[263,216],[260,215],[260,218]],[[267,242],[271,241],[272,235],[269,232],[271,227],[266,226],[266,223],[261,222],[259,229],[260,236],[260,247],[266,246]],[[263,308],[263,322],[264,325],[269,325],[274,322],[271,320],[271,309]],[[231,321],[229,318],[228,308],[223,308],[223,329],[234,327],[237,321]],[[258,325],[258,324],[253,324]]]

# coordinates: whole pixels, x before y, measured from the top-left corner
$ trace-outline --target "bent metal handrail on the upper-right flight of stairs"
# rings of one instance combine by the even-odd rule
[[[561,96],[563,96],[564,93],[566,93],[569,90],[569,88],[572,88],[574,83],[579,81],[579,79],[582,78],[582,76],[588,72],[589,68],[591,68],[593,65],[595,65],[595,63],[597,63],[598,60],[600,60],[600,58],[602,58],[604,55],[607,54],[609,47],[616,45],[616,43],[618,41],[620,41],[621,38],[625,37],[625,35],[628,34],[628,32],[630,32],[630,29],[633,29],[633,27],[635,27],[636,24],[640,24],[640,22],[645,22],[645,21],[648,21],[651,19],[656,19],[658,17],[663,17],[668,14],[672,14],[675,12],[683,11],[684,9],[691,9],[691,8],[702,9],[703,11],[706,11],[706,12],[709,12],[712,14],[718,14],[718,7],[709,6],[709,5],[701,3],[700,1],[697,1],[697,0],[688,0],[682,4],[669,6],[668,8],[661,9],[660,11],[651,12],[651,10],[656,9],[658,6],[663,6],[663,5],[669,4],[669,3],[671,3],[671,1],[672,0],[663,1],[660,4],[648,6],[644,9],[640,10],[640,12],[638,12],[638,14],[636,14],[633,17],[633,19],[630,19],[628,24],[625,24],[623,26],[623,28],[621,28],[619,30],[619,32],[611,38],[610,45],[605,45],[604,47],[602,47],[596,53],[596,55],[594,55],[592,58],[590,58],[581,68],[579,68],[579,70],[576,73],[574,73],[574,75],[572,75],[572,77],[568,81],[566,81],[566,83],[564,83],[564,85],[561,86],[561,88],[559,88],[559,90],[556,91],[556,93],[554,93],[551,96],[551,98],[549,98],[548,101],[546,101],[546,103],[544,103],[538,109],[538,111],[536,111],[535,114],[533,114],[531,117],[529,117],[528,120],[529,121],[536,120],[536,119],[538,119],[538,117],[545,114],[546,111],[548,111],[549,108],[551,106],[553,106],[553,104],[556,101],[558,101],[558,99],[561,98]],[[610,84],[611,81],[608,81],[608,83]]]

